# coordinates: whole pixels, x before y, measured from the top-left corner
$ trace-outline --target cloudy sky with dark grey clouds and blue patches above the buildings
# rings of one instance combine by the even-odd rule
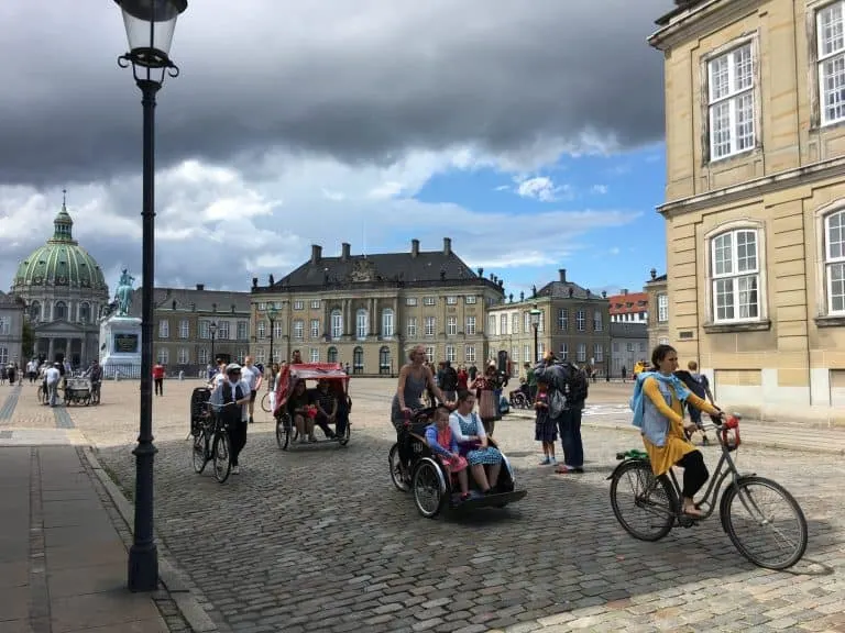
[[[238,12],[232,12],[232,7]],[[157,107],[156,284],[246,289],[310,244],[439,249],[517,292],[662,269],[669,0],[193,0]],[[113,2],[3,0],[0,284],[52,233],[141,266],[141,104]],[[12,29],[7,26],[12,25]],[[138,275],[140,278],[140,275]]]

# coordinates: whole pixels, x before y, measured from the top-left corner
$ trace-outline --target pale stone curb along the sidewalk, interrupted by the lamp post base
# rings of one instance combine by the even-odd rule
[[[83,455],[85,455],[88,465],[94,470],[97,478],[102,484],[106,491],[109,493],[114,508],[117,509],[123,522],[130,533],[133,532],[133,515],[134,506],[129,502],[123,492],[120,490],[117,484],[111,480],[111,477],[100,466],[100,462],[94,454],[94,449],[90,446],[83,447]],[[157,538],[157,535],[156,535]],[[171,599],[176,603],[176,608],[179,613],[195,633],[211,633],[219,631],[213,620],[206,613],[202,606],[191,593],[188,584],[185,580],[185,575],[165,556],[158,555],[158,579],[164,585],[167,592],[171,595]]]

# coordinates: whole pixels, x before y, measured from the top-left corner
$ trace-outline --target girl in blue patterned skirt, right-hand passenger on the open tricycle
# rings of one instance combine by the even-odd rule
[[[470,465],[473,479],[481,491],[487,495],[498,481],[502,453],[490,445],[484,424],[473,411],[474,407],[475,396],[471,391],[459,391],[458,409],[449,417],[449,429]]]

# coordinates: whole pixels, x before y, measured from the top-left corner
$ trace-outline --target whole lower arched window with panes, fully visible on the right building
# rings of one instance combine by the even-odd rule
[[[757,231],[737,229],[711,240],[713,321],[760,318],[760,269]]]

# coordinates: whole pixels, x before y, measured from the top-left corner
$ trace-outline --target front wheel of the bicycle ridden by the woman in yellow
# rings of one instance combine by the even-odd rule
[[[721,508],[734,546],[758,567],[788,569],[804,555],[806,519],[780,484],[765,477],[743,477],[725,490]]]

